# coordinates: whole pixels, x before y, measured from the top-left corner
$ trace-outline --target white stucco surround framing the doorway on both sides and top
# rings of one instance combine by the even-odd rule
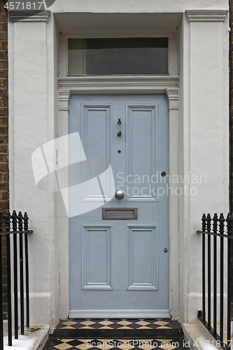
[[[150,30],[161,35],[169,27],[171,36],[176,38],[178,62],[172,74],[180,75],[179,132],[175,135],[179,148],[178,171],[183,177],[206,175],[207,179],[207,183],[195,184],[197,195],[178,198],[178,232],[171,230],[178,237],[180,274],[174,287],[177,294],[174,300],[176,303],[180,300],[180,304],[176,305],[173,316],[185,322],[194,321],[197,309],[201,308],[202,269],[201,237],[196,230],[200,228],[203,213],[228,211],[229,25],[228,17],[225,21],[212,21],[212,14],[206,20],[200,17],[189,22],[182,14],[185,10],[227,10],[228,1],[69,0],[69,6],[67,2],[55,1],[48,22],[22,21],[8,25],[10,209],[27,211],[34,230],[29,237],[31,323],[55,325],[66,314],[62,305],[65,298],[69,299],[64,286],[59,284],[60,267],[68,260],[61,260],[61,252],[67,248],[62,243],[67,221],[59,219],[62,204],[53,192],[53,179],[47,183],[47,193],[36,188],[31,153],[64,132],[58,120],[57,102],[58,42],[62,42],[59,32],[62,31],[62,36],[66,34],[64,30],[78,34],[77,24],[67,19],[81,16],[80,13],[155,13],[157,19],[163,20],[158,20],[154,28],[145,27],[144,32]],[[177,27],[174,27],[176,15],[166,25],[168,11],[181,14]],[[67,13],[67,17],[62,20],[64,14],[59,16],[59,13]],[[134,24],[134,18],[130,23]],[[84,31],[88,25],[87,22]],[[101,26],[96,25],[100,30]],[[93,33],[93,23],[90,26]],[[103,35],[107,28],[101,30]],[[143,27],[134,24],[131,35],[134,32],[143,36]],[[61,74],[64,76],[65,71],[61,70]],[[187,183],[187,186],[192,185]],[[173,208],[169,210],[172,213]]]

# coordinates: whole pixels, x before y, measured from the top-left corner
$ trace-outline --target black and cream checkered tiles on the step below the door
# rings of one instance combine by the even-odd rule
[[[44,350],[186,349],[178,321],[162,318],[99,318],[60,321]]]

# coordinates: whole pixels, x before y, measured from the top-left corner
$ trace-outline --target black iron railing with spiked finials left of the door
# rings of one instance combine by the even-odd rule
[[[6,236],[6,262],[7,262],[7,304],[8,304],[8,345],[12,346],[12,305],[14,300],[15,339],[18,339],[18,283],[20,284],[20,329],[24,335],[24,288],[26,295],[26,325],[29,328],[29,263],[27,235],[32,233],[28,229],[29,218],[27,213],[22,216],[21,211],[10,215],[6,211],[3,216],[0,209],[0,350],[3,350],[3,246],[2,238]],[[13,237],[13,241],[12,241]],[[19,249],[18,249],[19,248]],[[13,292],[11,288],[11,258],[13,252]],[[20,264],[20,278],[18,279],[18,263]],[[25,282],[25,283],[24,283]]]

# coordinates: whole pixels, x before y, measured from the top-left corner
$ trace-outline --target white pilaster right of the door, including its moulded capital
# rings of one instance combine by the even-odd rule
[[[183,53],[183,208],[181,232],[182,321],[202,308],[203,213],[228,211],[227,10],[186,10]],[[189,50],[187,50],[189,48]],[[186,177],[185,177],[186,176]],[[183,251],[183,253],[182,253]]]

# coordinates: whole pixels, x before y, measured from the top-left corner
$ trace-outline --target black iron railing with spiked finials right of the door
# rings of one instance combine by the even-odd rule
[[[206,328],[216,340],[220,341],[224,349],[231,348],[231,321],[232,321],[232,246],[233,246],[233,218],[228,214],[225,219],[223,214],[213,218],[208,214],[202,216],[202,311],[198,316]],[[206,235],[207,235],[207,259],[206,259]],[[227,248],[225,248],[227,239]],[[206,264],[207,260],[207,264]],[[206,269],[207,267],[207,269]],[[227,269],[227,286],[225,286],[225,269]],[[206,276],[207,275],[207,276]],[[206,289],[207,284],[207,289]],[[218,293],[219,289],[219,293]],[[227,307],[225,307],[224,293],[227,290]],[[207,305],[206,305],[207,291]],[[213,300],[211,300],[211,293]],[[219,307],[217,297],[219,295]],[[206,318],[207,314],[207,318]],[[224,337],[224,316],[227,316],[227,339]],[[219,331],[217,322],[219,320]],[[211,323],[212,322],[212,323]],[[212,327],[213,325],[213,327]]]

